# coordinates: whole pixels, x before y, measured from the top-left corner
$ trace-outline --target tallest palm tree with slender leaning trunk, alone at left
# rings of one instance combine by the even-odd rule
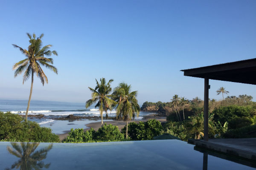
[[[13,65],[13,70],[15,70],[14,77],[17,77],[17,75],[23,74],[23,84],[26,80],[29,79],[31,75],[31,87],[30,87],[30,94],[29,94],[29,101],[28,106],[26,109],[26,117],[25,120],[28,119],[28,112],[29,112],[29,104],[32,96],[32,89],[33,89],[33,82],[34,82],[34,74],[38,78],[41,79],[41,83],[44,85],[44,82],[48,83],[48,79],[46,75],[44,74],[43,69],[41,66],[44,66],[46,68],[49,68],[54,73],[58,74],[57,68],[55,68],[53,65],[53,59],[47,58],[45,56],[51,56],[52,54],[58,55],[56,51],[50,51],[50,47],[52,45],[45,45],[42,47],[42,40],[41,38],[44,37],[44,34],[41,34],[38,38],[36,38],[36,35],[33,34],[33,37],[27,33],[27,36],[29,37],[29,47],[28,50],[23,49],[19,47],[18,45],[12,44],[15,48],[19,48],[22,54],[26,56],[26,59],[23,59],[19,62],[17,62],[15,65]]]

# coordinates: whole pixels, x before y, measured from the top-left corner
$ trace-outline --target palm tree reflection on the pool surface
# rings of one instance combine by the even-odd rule
[[[11,143],[12,147],[7,146],[7,150],[14,156],[20,158],[17,162],[12,164],[11,169],[20,168],[20,170],[41,170],[41,168],[49,168],[49,164],[44,164],[42,161],[46,159],[47,152],[52,149],[52,144],[49,144],[48,147],[42,148],[35,152],[39,143],[25,143],[20,142],[20,145],[17,143]],[[6,168],[6,170],[10,170]]]

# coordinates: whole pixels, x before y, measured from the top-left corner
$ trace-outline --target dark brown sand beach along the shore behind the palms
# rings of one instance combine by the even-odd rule
[[[144,116],[144,119],[142,119],[142,120],[130,120],[130,121],[128,121],[128,123],[130,123],[130,122],[146,122],[148,119],[156,119],[159,122],[166,122],[166,116],[158,116],[157,114],[151,114],[151,115]],[[122,120],[113,120],[113,121],[108,121],[108,122],[104,122],[104,120],[103,120],[103,123],[106,123],[107,125],[109,125],[109,124],[115,125],[118,127],[118,129],[120,131],[126,125],[126,123]],[[91,127],[94,130],[98,130],[99,127],[101,127],[101,122],[89,123],[89,124],[86,124],[86,126],[88,128],[85,128],[84,131],[89,130]],[[58,136],[60,138],[60,141],[65,139],[68,136],[69,132],[70,131],[67,130],[65,133],[59,134]]]

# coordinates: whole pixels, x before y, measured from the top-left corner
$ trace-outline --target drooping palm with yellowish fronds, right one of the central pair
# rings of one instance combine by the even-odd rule
[[[113,91],[113,99],[118,101],[116,108],[116,117],[122,113],[123,119],[126,122],[126,139],[128,139],[128,120],[137,113],[140,114],[140,106],[136,99],[137,91],[131,92],[131,85],[125,82],[119,84]]]

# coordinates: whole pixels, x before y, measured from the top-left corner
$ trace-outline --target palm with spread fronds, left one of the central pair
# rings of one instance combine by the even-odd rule
[[[112,105],[114,105],[116,102],[113,101],[111,98],[112,95],[110,95],[112,88],[110,86],[110,83],[113,82],[113,79],[110,79],[108,83],[106,83],[105,78],[102,78],[97,81],[96,79],[96,87],[90,88],[90,91],[92,92],[92,99],[87,100],[85,107],[90,107],[93,103],[97,104],[95,105],[95,108],[99,107],[99,113],[102,119],[102,127],[103,127],[103,111],[106,112],[106,116],[108,115],[108,109],[111,110]]]

